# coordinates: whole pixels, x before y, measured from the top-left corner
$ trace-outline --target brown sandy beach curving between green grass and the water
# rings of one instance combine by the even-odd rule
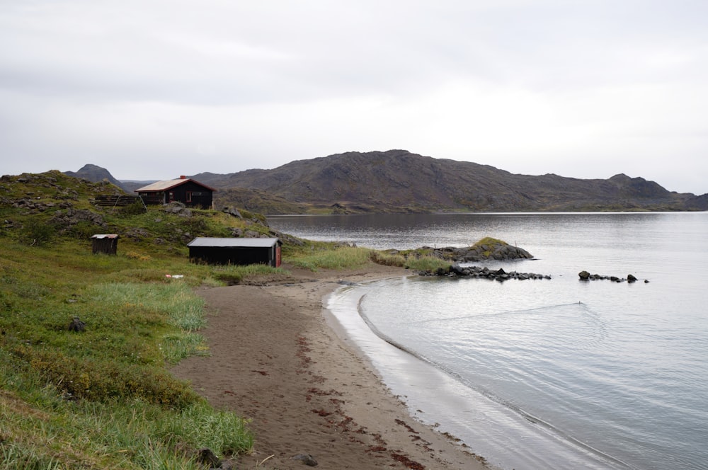
[[[326,320],[340,281],[398,277],[402,268],[319,273],[200,290],[210,357],[173,368],[213,406],[250,418],[253,454],[239,469],[488,469],[450,436],[411,418],[366,360]],[[311,462],[313,463],[313,462]]]

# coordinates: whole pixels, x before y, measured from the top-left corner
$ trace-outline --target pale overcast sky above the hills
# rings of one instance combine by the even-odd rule
[[[406,149],[708,193],[705,0],[0,0],[0,174]]]

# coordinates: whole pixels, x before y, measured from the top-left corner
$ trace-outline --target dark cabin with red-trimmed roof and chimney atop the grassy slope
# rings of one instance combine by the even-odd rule
[[[180,176],[175,180],[157,181],[135,191],[145,204],[182,202],[187,207],[210,209],[216,190],[192,178]]]

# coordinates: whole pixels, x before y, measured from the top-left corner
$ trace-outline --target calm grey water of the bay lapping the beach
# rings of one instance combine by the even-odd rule
[[[401,277],[342,289],[329,308],[418,418],[492,464],[708,469],[708,213],[269,222],[372,248],[494,236],[527,249],[537,259],[487,265],[552,280]]]

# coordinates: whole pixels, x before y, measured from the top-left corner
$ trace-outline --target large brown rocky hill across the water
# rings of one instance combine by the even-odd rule
[[[348,152],[191,178],[219,189],[218,204],[249,200],[250,210],[267,214],[708,210],[707,197],[624,174],[607,180],[520,175],[406,150]]]

